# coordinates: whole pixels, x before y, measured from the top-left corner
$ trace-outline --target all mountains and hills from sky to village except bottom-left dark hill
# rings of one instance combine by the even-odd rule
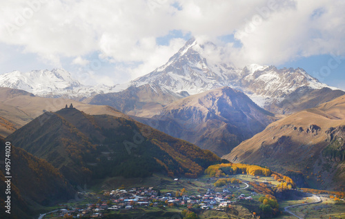
[[[342,189],[345,92],[301,68],[237,68],[217,45],[190,39],[166,64],[121,85],[82,85],[54,69],[1,74],[0,87],[0,135],[74,184],[125,176],[126,168],[141,176],[135,165],[195,177],[217,154],[299,185]],[[78,110],[61,110],[70,103]],[[133,141],[133,130],[144,143],[126,154],[118,147]],[[328,175],[328,167],[337,171]]]

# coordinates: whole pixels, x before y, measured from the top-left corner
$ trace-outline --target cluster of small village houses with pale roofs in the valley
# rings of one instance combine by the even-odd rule
[[[236,187],[234,187],[236,189]],[[252,193],[253,195],[255,192]],[[87,204],[85,209],[61,209],[61,216],[74,215],[79,217],[88,216],[92,218],[103,217],[103,212],[114,211],[119,209],[135,209],[137,207],[158,207],[159,205],[168,206],[190,206],[197,204],[201,209],[217,209],[222,210],[223,207],[233,204],[236,200],[246,199],[253,200],[251,196],[246,197],[241,194],[237,198],[233,198],[232,192],[228,188],[224,188],[222,192],[215,192],[213,189],[207,189],[206,194],[198,196],[183,195],[175,197],[173,194],[159,194],[158,191],[153,190],[152,187],[145,189],[132,188],[129,191],[126,189],[116,189],[106,191],[103,194],[104,200],[95,204]],[[230,200],[232,199],[232,200]],[[112,205],[108,205],[109,200]]]

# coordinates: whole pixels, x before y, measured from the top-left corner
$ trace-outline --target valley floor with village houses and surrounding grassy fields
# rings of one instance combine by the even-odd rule
[[[60,203],[50,212],[41,214],[39,219],[184,218],[184,211],[197,213],[197,218],[229,217],[237,214],[242,215],[242,218],[258,218],[259,207],[262,205],[260,199],[265,196],[255,187],[273,188],[279,185],[279,182],[272,176],[238,174],[234,177],[241,181],[221,186],[216,183],[219,178],[209,176],[196,179],[170,178],[163,175],[137,180],[114,178],[114,182],[121,183],[118,182],[112,187],[97,186],[79,191],[75,199]],[[328,194],[315,196],[301,189],[290,189],[290,192],[295,194],[294,199],[279,202],[282,218],[291,216],[286,210],[290,207],[290,211],[304,214],[312,212],[308,209],[324,207],[327,207],[327,213],[343,212],[343,205],[339,205],[344,202],[342,199],[336,201]],[[323,202],[318,201],[320,197]],[[312,203],[319,204],[309,205]],[[294,205],[301,207],[293,207]],[[294,211],[295,209],[298,212]],[[325,214],[326,211],[319,213]]]

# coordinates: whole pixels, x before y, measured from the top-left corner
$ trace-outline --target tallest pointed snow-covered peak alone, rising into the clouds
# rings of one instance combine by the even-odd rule
[[[230,63],[208,63],[204,47],[190,39],[165,65],[135,79],[131,85],[154,83],[177,94],[197,94],[228,85],[229,74],[237,74],[236,70]]]

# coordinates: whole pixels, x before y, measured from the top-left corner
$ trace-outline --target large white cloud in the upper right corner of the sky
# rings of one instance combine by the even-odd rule
[[[313,12],[319,8],[324,13],[313,18]],[[301,56],[344,54],[343,11],[342,1],[297,1],[295,7],[272,11],[270,17],[253,25],[248,34],[236,32],[243,48],[233,52],[234,59],[239,65],[279,65]]]

